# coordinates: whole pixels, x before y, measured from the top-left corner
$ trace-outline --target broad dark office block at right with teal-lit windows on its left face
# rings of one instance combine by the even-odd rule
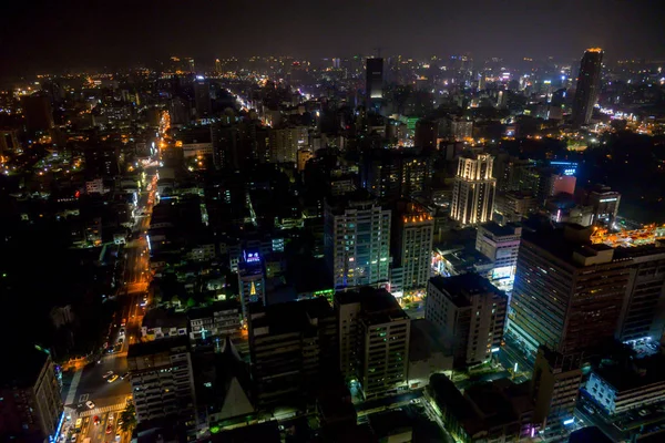
[[[508,329],[528,352],[545,344],[569,354],[614,337],[632,260],[591,244],[591,231],[522,233]]]

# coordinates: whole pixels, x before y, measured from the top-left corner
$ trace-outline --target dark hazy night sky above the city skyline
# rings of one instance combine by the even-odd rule
[[[665,59],[662,0],[4,0],[0,75],[171,54]]]

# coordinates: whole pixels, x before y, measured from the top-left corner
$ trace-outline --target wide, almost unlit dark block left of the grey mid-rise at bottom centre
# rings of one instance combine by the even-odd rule
[[[335,372],[337,323],[325,297],[252,303],[247,320],[258,408],[301,404]]]

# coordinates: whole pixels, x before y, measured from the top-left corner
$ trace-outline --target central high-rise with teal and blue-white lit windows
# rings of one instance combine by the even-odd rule
[[[325,203],[325,250],[336,289],[389,280],[390,209],[359,190]]]

